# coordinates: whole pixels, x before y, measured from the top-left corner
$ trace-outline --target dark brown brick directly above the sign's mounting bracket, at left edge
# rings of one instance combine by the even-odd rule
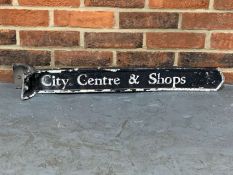
[[[49,66],[51,54],[49,51],[38,50],[0,50],[0,65],[11,66],[14,63],[32,66]]]

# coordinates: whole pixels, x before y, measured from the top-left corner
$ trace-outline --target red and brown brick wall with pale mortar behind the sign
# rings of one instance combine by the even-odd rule
[[[220,67],[233,84],[233,1],[0,0],[0,81],[13,63]]]

